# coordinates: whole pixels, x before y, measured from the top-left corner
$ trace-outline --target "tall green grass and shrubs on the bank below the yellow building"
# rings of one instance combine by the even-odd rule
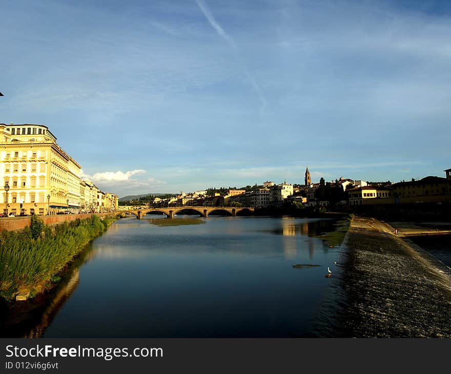
[[[92,216],[48,226],[33,217],[30,227],[0,233],[0,297],[5,300],[51,288],[58,273],[114,221]]]

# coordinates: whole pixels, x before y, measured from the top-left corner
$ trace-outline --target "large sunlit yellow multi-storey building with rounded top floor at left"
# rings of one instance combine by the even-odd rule
[[[0,124],[0,178],[8,213],[56,214],[80,206],[80,165],[40,124]],[[6,205],[2,207],[6,211]]]

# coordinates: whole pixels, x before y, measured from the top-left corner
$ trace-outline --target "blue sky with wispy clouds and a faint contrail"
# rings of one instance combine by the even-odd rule
[[[451,5],[4,1],[0,122],[119,196],[451,168]]]

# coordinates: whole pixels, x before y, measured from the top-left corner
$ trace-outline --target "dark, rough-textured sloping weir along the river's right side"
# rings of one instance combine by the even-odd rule
[[[374,218],[353,219],[336,275],[346,299],[342,334],[451,337],[449,268],[393,230]]]

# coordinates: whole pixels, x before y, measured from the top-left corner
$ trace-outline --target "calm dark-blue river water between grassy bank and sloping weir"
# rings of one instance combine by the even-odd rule
[[[152,219],[150,218],[152,217]],[[339,247],[330,220],[163,216],[113,223],[31,335],[312,336]],[[296,264],[304,266],[294,268]]]

